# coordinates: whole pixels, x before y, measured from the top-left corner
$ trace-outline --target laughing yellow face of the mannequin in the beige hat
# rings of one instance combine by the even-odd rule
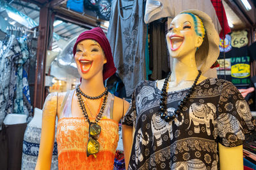
[[[166,34],[168,50],[173,58],[184,57],[196,52],[202,44],[202,37],[197,36],[191,15],[182,13],[173,18],[169,32]]]

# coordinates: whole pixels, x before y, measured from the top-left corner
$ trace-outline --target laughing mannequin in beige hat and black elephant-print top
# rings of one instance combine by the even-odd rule
[[[173,18],[166,34],[173,57],[170,80],[141,83],[123,120],[123,141],[132,143],[131,148],[124,145],[127,169],[243,169],[242,144],[255,120],[232,83],[204,76],[218,59],[219,39],[202,11],[183,11]],[[178,116],[168,122],[161,115],[165,110]],[[127,134],[132,129],[131,139]]]

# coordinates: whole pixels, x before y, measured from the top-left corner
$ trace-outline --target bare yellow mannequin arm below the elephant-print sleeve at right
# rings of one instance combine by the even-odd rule
[[[220,170],[243,170],[243,145],[232,148],[219,145]]]

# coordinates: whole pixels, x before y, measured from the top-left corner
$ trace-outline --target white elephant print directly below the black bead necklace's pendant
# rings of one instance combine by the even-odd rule
[[[175,108],[168,108],[167,113],[174,113]],[[180,126],[184,122],[184,115],[181,113],[180,116],[182,117],[182,120],[177,120],[175,118],[173,121],[175,125]],[[152,132],[154,137],[156,138],[156,143],[157,146],[161,146],[163,143],[163,140],[161,138],[161,135],[164,134],[166,131],[169,132],[170,139],[173,139],[173,132],[172,132],[172,122],[165,122],[159,114],[154,114],[152,115],[152,120],[151,120],[151,127],[152,127]],[[154,138],[153,138],[154,139]]]

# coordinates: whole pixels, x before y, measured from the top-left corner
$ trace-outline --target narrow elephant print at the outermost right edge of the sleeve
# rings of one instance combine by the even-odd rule
[[[253,130],[252,114],[246,101],[236,101],[236,110],[241,118],[244,119],[248,129]]]

